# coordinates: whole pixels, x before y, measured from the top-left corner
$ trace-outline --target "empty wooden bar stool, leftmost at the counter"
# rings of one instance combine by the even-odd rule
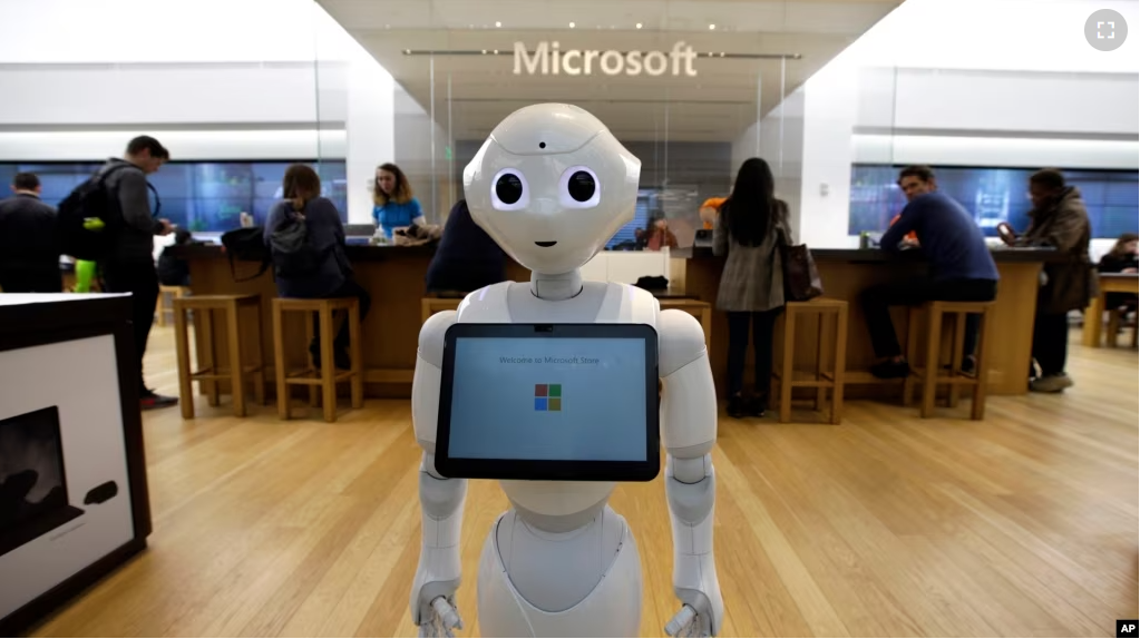
[[[256,361],[250,364],[243,362],[242,346],[245,339],[242,337],[242,309],[253,309],[256,314],[255,322],[245,325],[253,327],[253,333],[250,337],[256,345],[254,354]],[[209,360],[204,366],[202,366],[203,362],[198,362],[201,369],[197,372],[190,371],[190,342],[187,328],[189,311],[194,311],[194,321],[202,337],[202,344],[198,344],[199,352],[204,352]],[[222,368],[218,362],[218,349],[213,338],[214,311],[219,311],[222,316],[226,350],[229,357],[229,364],[226,368]],[[218,382],[229,380],[230,394],[234,398],[234,415],[245,417],[245,383],[250,380],[247,376],[252,376],[254,396],[259,403],[266,403],[266,360],[261,352],[260,295],[192,295],[189,297],[176,297],[174,337],[178,343],[179,403],[182,405],[184,419],[194,418],[194,386],[192,383],[195,380],[204,385],[210,405],[218,405]]]

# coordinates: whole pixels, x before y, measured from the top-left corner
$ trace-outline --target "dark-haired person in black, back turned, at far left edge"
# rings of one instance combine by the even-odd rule
[[[0,200],[0,289],[5,293],[60,293],[56,210],[40,200],[40,179],[17,173],[15,194]]]

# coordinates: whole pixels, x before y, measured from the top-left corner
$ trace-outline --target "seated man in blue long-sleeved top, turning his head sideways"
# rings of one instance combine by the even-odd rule
[[[882,235],[879,246],[887,252],[898,252],[906,235],[914,231],[930,272],[874,286],[863,293],[863,313],[874,354],[879,358],[871,372],[880,378],[906,377],[911,371],[890,321],[890,306],[912,306],[934,300],[991,302],[997,296],[997,267],[982,229],[961,204],[938,192],[934,171],[928,166],[907,166],[898,174],[898,187],[909,204],[898,221]],[[964,347],[968,354],[962,369],[968,372],[972,372],[976,361],[972,353],[977,345],[978,320],[974,314],[967,317]]]

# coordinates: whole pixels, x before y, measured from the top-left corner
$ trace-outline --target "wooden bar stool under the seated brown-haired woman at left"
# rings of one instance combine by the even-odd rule
[[[349,357],[352,359],[351,370],[336,370],[333,362],[333,313],[344,311],[349,322]],[[285,313],[303,312],[306,337],[312,335],[312,314],[320,317],[320,367],[307,366],[303,369],[290,371],[285,362],[285,341],[282,327]],[[296,297],[274,298],[274,351],[277,362],[277,412],[282,419],[290,418],[291,385],[309,386],[309,405],[317,405],[317,387],[324,391],[325,421],[336,421],[336,384],[350,380],[352,384],[352,408],[364,407],[364,353],[360,347],[360,301],[356,297],[336,297],[332,300],[300,300]]]

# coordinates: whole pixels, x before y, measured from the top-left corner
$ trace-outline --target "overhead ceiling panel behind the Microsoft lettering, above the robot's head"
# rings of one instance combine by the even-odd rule
[[[447,128],[450,106],[451,137],[456,140],[482,139],[503,117],[524,105],[567,101],[593,112],[621,139],[674,141],[736,139],[756,121],[757,113],[771,110],[901,3],[317,1],[425,108],[432,101],[434,77],[435,120]],[[596,71],[572,77],[513,73],[516,41],[530,51],[540,41],[557,41],[563,51],[669,51],[678,40],[699,54],[693,64],[695,77],[606,76]],[[409,50],[435,55],[408,55]],[[722,52],[727,57],[720,57]],[[752,55],[772,58],[732,57]]]

